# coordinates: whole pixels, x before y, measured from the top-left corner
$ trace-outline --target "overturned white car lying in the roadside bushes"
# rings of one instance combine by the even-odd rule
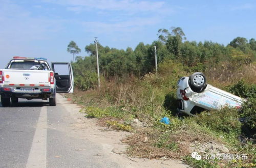
[[[178,80],[178,110],[181,113],[195,115],[205,109],[217,109],[224,106],[240,108],[244,99],[213,87],[206,83],[201,72]]]

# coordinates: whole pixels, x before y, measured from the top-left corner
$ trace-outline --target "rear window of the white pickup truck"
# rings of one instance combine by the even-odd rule
[[[44,65],[44,66],[42,66]],[[49,70],[45,63],[36,63],[33,61],[29,62],[12,62],[9,69],[29,69],[29,70]]]

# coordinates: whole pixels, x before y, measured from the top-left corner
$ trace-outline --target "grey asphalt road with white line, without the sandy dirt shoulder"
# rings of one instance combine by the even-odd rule
[[[69,136],[73,121],[64,105],[19,99],[1,106],[0,167],[119,167],[93,156],[97,144]]]

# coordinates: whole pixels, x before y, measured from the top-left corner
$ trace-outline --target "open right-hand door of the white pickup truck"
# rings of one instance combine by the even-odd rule
[[[54,62],[52,70],[54,71],[54,78],[56,81],[57,93],[73,93],[74,77],[72,66],[70,63]]]

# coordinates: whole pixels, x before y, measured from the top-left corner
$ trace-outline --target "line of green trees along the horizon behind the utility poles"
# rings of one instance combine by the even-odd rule
[[[101,76],[106,80],[113,77],[126,78],[130,76],[142,77],[146,73],[155,71],[155,47],[157,47],[157,61],[159,64],[171,60],[181,63],[187,69],[204,71],[209,66],[216,66],[221,62],[233,62],[234,65],[250,64],[256,60],[256,41],[249,41],[243,37],[233,39],[228,45],[204,41],[186,41],[181,27],[171,27],[169,30],[160,29],[158,40],[152,44],[140,42],[133,50],[126,50],[102,46],[98,43],[99,68]],[[97,83],[96,46],[91,43],[84,47],[89,54],[87,57],[77,56],[72,66],[75,85],[87,90],[94,88]],[[68,45],[67,51],[78,54],[81,50],[74,41]]]

